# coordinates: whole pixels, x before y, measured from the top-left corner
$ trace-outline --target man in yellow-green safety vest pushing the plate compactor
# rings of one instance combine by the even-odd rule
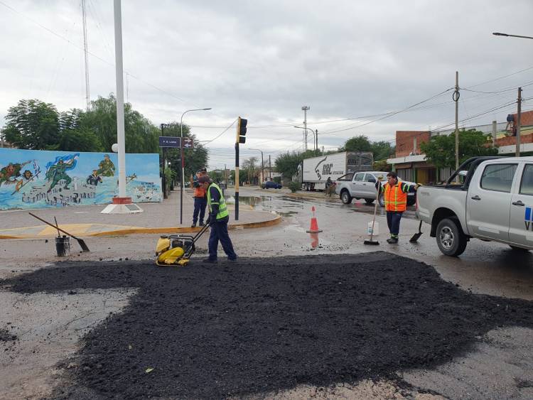
[[[228,261],[237,261],[237,254],[233,249],[230,234],[227,233],[227,222],[230,220],[230,212],[227,211],[226,200],[222,195],[222,190],[216,183],[212,183],[209,175],[202,175],[198,178],[198,183],[208,193],[209,222],[211,224],[211,234],[209,237],[209,257],[204,262],[217,262],[218,242],[222,244],[222,249],[227,254]]]

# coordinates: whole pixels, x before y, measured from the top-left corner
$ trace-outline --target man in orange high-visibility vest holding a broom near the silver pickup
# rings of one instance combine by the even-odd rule
[[[381,185],[382,176],[379,176],[376,189],[383,193],[385,201],[385,211],[387,211],[387,226],[389,227],[390,238],[387,243],[398,243],[399,223],[402,215],[407,209],[407,193],[416,192],[420,185],[408,185],[398,180],[395,172],[387,173],[387,183]]]

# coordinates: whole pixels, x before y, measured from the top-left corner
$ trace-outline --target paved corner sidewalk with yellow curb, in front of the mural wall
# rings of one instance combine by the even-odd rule
[[[228,194],[233,195],[233,190]],[[171,192],[161,203],[139,203],[144,212],[137,214],[101,214],[106,205],[82,207],[45,208],[40,210],[14,210],[0,212],[0,239],[32,239],[54,237],[58,231],[36,220],[28,212],[50,223],[54,217],[59,227],[77,237],[124,235],[138,233],[196,232],[193,222],[193,190],[183,192],[183,224],[180,225],[180,192]],[[229,229],[266,227],[281,222],[281,217],[271,212],[256,211],[249,205],[239,204],[239,220],[235,221],[235,205],[228,204]],[[205,212],[206,217],[208,210]]]

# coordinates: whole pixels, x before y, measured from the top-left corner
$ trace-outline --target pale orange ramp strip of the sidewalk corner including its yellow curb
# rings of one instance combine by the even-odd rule
[[[249,229],[262,228],[277,225],[281,222],[281,216],[276,215],[273,220],[262,222],[247,222],[243,224],[230,224],[228,229]],[[200,227],[128,227],[123,225],[106,225],[106,224],[63,224],[59,225],[61,229],[77,237],[97,237],[113,236],[124,234],[164,234],[164,233],[189,233],[198,232]],[[21,227],[12,229],[0,229],[0,239],[41,239],[45,237],[55,237],[58,234],[57,229],[47,225],[38,225],[34,227]]]

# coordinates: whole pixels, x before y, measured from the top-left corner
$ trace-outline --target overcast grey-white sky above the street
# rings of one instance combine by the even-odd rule
[[[90,98],[107,97],[113,1],[86,10]],[[519,86],[533,109],[533,40],[492,32],[533,36],[532,15],[531,0],[124,0],[124,97],[154,124],[212,107],[184,119],[198,140],[217,138],[211,168],[235,163],[238,116],[242,158],[301,150],[304,105],[325,148],[452,128],[456,71],[461,126],[503,122]],[[0,124],[19,99],[85,108],[80,0],[0,0],[0,32]]]

